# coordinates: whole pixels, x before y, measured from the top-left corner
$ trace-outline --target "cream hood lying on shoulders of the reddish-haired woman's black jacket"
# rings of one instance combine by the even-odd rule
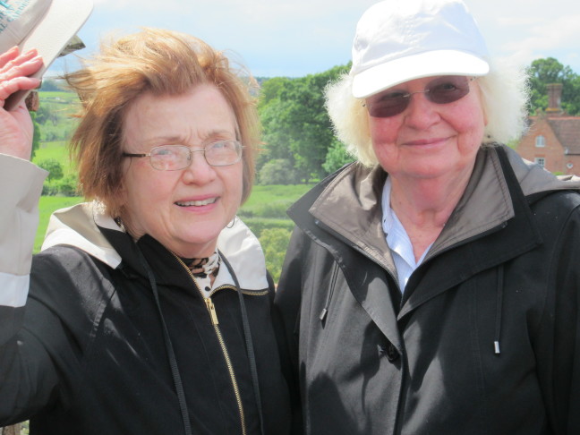
[[[145,240],[148,238],[149,241]],[[113,240],[115,242],[112,243]],[[82,202],[53,213],[41,249],[44,251],[59,244],[74,246],[115,269],[124,260],[135,262],[135,259],[130,258],[132,246],[126,246],[128,240],[130,237],[107,214],[102,205],[96,201]],[[149,244],[154,241],[148,235],[141,240]],[[117,241],[121,242],[117,244]],[[121,243],[125,243],[125,246]],[[258,238],[240,218],[236,217],[233,226],[222,230],[218,237],[218,250],[231,264],[244,290],[268,288],[264,252]],[[223,278],[221,272],[220,277]],[[233,280],[229,284],[233,284]]]

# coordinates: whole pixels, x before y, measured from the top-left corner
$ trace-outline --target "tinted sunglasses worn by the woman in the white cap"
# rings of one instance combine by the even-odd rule
[[[469,93],[469,82],[472,80],[473,78],[465,75],[446,75],[427,83],[425,90],[387,90],[367,98],[364,106],[369,110],[369,115],[387,118],[404,112],[413,94],[424,93],[425,98],[435,104],[453,103]]]

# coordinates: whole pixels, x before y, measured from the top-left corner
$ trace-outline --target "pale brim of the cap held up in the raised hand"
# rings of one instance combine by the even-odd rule
[[[42,68],[32,77],[42,77],[47,68],[87,21],[92,9],[92,0],[52,0],[47,13],[38,22],[36,28],[19,45],[21,53],[36,48],[38,55],[44,61]],[[6,99],[4,108],[11,110],[18,106],[29,92],[28,90],[15,92]]]

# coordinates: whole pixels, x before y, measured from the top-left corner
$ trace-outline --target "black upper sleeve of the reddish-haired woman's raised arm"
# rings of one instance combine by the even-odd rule
[[[24,315],[0,346],[0,426],[64,400],[63,385],[82,385],[91,332],[115,291],[105,269],[70,246],[34,256]]]

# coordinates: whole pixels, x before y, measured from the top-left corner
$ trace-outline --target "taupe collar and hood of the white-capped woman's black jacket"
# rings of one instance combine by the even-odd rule
[[[580,190],[580,177],[555,176],[506,146],[479,150],[473,174],[448,223],[427,258],[449,246],[482,235],[514,217],[514,206],[498,156],[504,149],[517,182],[528,200],[559,190]],[[325,226],[354,249],[394,272],[382,230],[381,193],[388,175],[380,166],[346,166],[306,193],[288,210],[306,233]],[[345,210],[349,210],[345,212]]]

